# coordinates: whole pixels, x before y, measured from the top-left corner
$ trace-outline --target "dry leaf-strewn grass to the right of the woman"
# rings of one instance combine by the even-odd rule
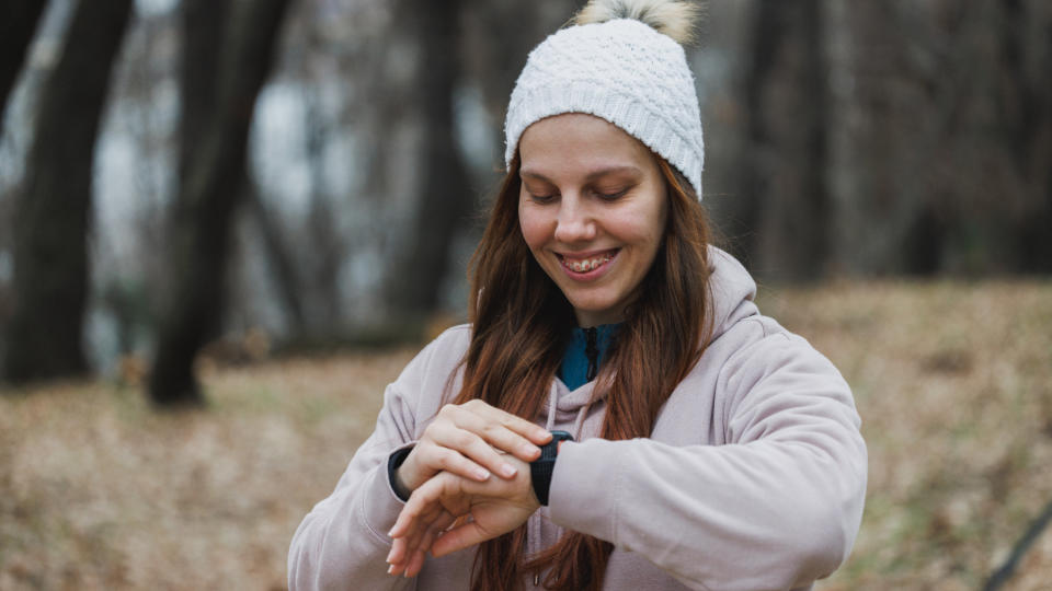
[[[977,589],[1052,500],[1052,285],[785,291],[765,312],[851,383],[869,491],[851,558],[821,589]],[[1005,589],[1049,589],[1052,531]]]

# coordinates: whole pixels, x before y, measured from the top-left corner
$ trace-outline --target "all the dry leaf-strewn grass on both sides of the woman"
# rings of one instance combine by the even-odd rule
[[[853,384],[862,531],[821,590],[975,589],[1052,499],[1052,285],[767,290]],[[207,376],[206,412],[138,389],[0,395],[0,589],[281,589],[288,541],[412,351]],[[1048,589],[1052,531],[1007,587]]]

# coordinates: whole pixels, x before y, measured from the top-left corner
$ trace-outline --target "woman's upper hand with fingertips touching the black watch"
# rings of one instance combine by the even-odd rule
[[[551,440],[544,427],[474,399],[447,404],[424,429],[416,445],[399,466],[397,484],[404,493],[416,490],[432,476],[446,471],[484,482],[490,474],[514,478],[518,470],[501,457],[510,453],[533,462]]]

